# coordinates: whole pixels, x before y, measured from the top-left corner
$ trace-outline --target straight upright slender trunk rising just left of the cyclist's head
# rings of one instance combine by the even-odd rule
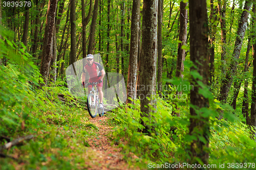
[[[76,62],[76,1],[70,0],[70,23],[71,23],[71,59],[69,64]]]

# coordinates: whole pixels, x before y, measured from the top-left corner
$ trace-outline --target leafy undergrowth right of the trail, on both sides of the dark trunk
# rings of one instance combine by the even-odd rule
[[[150,166],[152,164],[187,163],[189,160],[187,145],[192,139],[187,135],[188,107],[179,106],[181,116],[172,116],[170,114],[173,108],[172,101],[168,102],[158,98],[157,112],[151,113],[156,118],[156,123],[151,123],[146,118],[143,119],[146,125],[155,127],[155,131],[149,136],[138,132],[138,129],[143,128],[139,123],[140,104],[138,100],[134,102],[135,104],[130,105],[130,108],[123,106],[123,108],[116,109],[111,115],[112,119],[109,119],[115,126],[113,143],[118,144],[122,149],[124,158],[129,162],[131,160],[129,155],[133,153],[136,155],[136,162],[133,160],[132,164],[146,164],[147,167],[152,167]],[[217,103],[211,105],[212,110],[215,107],[225,106],[219,106]],[[205,110],[204,113],[216,114],[217,111],[212,110]],[[220,164],[225,164],[227,167],[230,163],[230,169],[236,169],[237,165],[245,167],[246,163],[254,163],[253,167],[250,167],[254,169],[256,141],[251,139],[250,129],[228,110],[224,111],[224,117],[222,120],[214,116],[210,117],[209,164],[217,165],[213,169],[222,169]],[[249,167],[249,164],[247,166]]]

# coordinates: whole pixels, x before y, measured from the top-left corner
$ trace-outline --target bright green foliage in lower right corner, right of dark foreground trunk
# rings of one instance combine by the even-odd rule
[[[250,138],[249,129],[241,122],[230,124],[226,120],[222,121],[228,126],[221,127],[220,131],[211,130],[209,162],[212,164],[255,162],[256,142]]]

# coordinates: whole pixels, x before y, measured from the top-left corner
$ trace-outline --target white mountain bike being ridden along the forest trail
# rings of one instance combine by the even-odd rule
[[[96,117],[97,113],[99,114],[100,117],[104,115],[104,107],[99,108],[99,94],[98,94],[97,84],[98,82],[87,83],[84,85],[84,87],[88,87],[89,85],[92,85],[92,90],[87,96],[87,108],[92,118]]]

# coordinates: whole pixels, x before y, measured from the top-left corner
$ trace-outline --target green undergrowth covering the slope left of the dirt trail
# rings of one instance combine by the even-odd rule
[[[0,65],[0,136],[12,140],[33,134],[35,138],[1,153],[19,153],[22,156],[18,159],[25,162],[25,169],[87,167],[82,157],[90,147],[86,137],[93,135],[94,132],[90,132],[97,127],[87,123],[89,119],[84,117],[82,107],[74,107],[79,104],[74,104],[66,87],[50,84],[38,88],[38,81],[42,79],[38,68],[30,62],[31,55],[19,49],[7,36],[0,39],[0,56],[8,59],[8,66]],[[59,101],[59,93],[66,96],[67,104]],[[0,143],[3,145],[6,141]],[[74,152],[78,156],[73,157]],[[0,159],[1,169],[17,166],[18,162],[12,159]]]

